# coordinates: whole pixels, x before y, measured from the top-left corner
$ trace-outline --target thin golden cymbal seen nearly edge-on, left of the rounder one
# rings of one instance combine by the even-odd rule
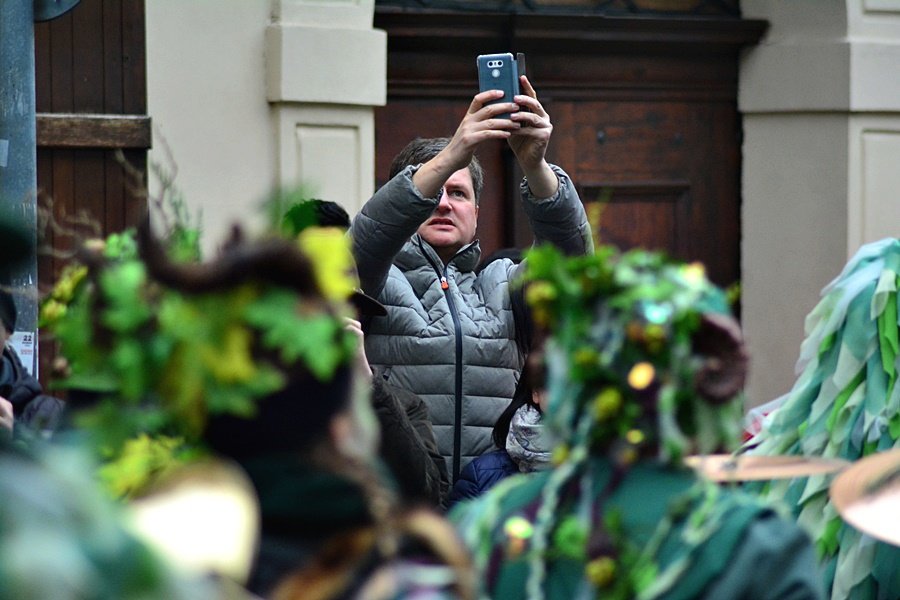
[[[734,454],[706,454],[688,456],[687,466],[716,482],[764,481],[792,479],[835,473],[850,462],[839,458],[816,456],[753,456]]]

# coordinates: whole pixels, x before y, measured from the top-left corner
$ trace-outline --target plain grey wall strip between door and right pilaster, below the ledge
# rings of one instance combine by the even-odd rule
[[[847,118],[744,117],[742,321],[749,405],[787,392],[819,290],[841,269],[847,238]]]

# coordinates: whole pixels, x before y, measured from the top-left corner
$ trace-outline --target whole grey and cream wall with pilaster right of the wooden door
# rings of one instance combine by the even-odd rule
[[[790,390],[806,315],[860,245],[898,235],[900,0],[744,0],[748,404]]]

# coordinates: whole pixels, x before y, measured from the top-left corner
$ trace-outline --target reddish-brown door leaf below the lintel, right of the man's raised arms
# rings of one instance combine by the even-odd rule
[[[723,284],[737,279],[738,115],[730,103],[557,107],[556,129],[572,132],[561,143],[582,200],[610,204],[595,223],[601,240],[701,260]]]

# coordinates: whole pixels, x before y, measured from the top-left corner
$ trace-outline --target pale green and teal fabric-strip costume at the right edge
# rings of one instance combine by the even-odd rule
[[[858,460],[900,446],[897,283],[900,241],[863,246],[806,318],[799,377],[753,442],[766,455]],[[816,541],[831,598],[897,598],[900,549],[845,524],[828,497],[830,478],[772,483]]]

